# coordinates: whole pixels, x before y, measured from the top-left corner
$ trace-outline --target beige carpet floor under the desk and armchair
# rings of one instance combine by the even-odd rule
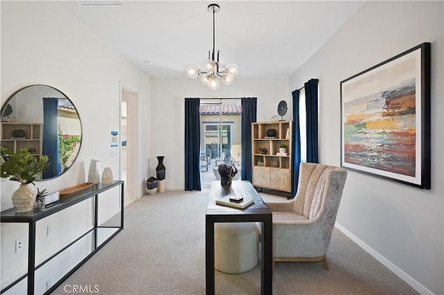
[[[125,229],[53,294],[67,294],[67,285],[89,286],[96,294],[205,294],[208,193],[137,199],[125,208]],[[337,229],[327,259],[330,271],[321,263],[278,262],[273,294],[418,294]],[[244,274],[216,271],[216,294],[260,294],[259,265]]]

